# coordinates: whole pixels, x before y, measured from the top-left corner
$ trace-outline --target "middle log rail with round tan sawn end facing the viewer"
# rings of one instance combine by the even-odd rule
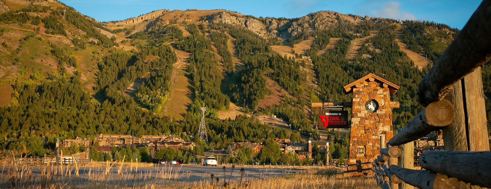
[[[452,103],[441,100],[431,103],[420,111],[397,135],[389,140],[391,146],[399,146],[426,136],[431,132],[447,126],[454,119],[455,111]]]

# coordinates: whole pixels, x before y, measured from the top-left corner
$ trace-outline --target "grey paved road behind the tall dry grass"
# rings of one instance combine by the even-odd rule
[[[115,165],[116,166],[116,165]],[[109,173],[112,174],[117,174],[118,172],[118,167],[111,167],[109,169]],[[5,177],[5,173],[9,170],[15,169],[13,166],[5,166],[3,167],[2,176]],[[21,169],[21,167],[18,167]],[[41,166],[28,166],[29,169],[32,170],[33,175],[41,175],[41,170],[44,167]],[[225,168],[225,175],[226,179],[230,177],[231,180],[238,180],[241,177],[240,170],[243,167],[235,167],[233,172],[232,172],[232,167],[228,166]],[[1,169],[1,168],[0,168]],[[51,169],[51,168],[48,168]],[[279,176],[279,175],[284,175],[288,173],[296,173],[298,172],[299,169],[296,168],[266,168],[266,167],[244,167],[244,177],[248,178],[264,178],[265,176]],[[66,173],[66,168],[64,168],[64,171]],[[76,169],[73,166],[69,167],[69,172],[71,173],[72,176],[75,176],[76,174]],[[89,175],[90,172],[90,175]],[[85,167],[82,166],[79,169],[79,177],[80,179],[88,178],[90,176],[98,175],[98,174],[104,174],[106,172],[106,167]],[[224,171],[223,167],[218,165],[218,166],[202,166],[202,165],[155,165],[153,167],[138,167],[137,170],[135,170],[135,167],[131,169],[131,167],[122,167],[122,172],[125,174],[136,174],[136,175],[152,175],[152,177],[155,177],[155,175],[159,176],[162,175],[162,173],[167,174],[170,173],[172,175],[172,179],[174,181],[199,181],[199,180],[206,180],[210,178],[211,174],[214,174],[215,177],[218,178],[223,178]],[[64,174],[65,174],[64,173]]]

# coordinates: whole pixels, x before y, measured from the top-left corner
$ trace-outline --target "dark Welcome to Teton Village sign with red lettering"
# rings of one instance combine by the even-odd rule
[[[319,129],[349,128],[348,111],[319,110]]]

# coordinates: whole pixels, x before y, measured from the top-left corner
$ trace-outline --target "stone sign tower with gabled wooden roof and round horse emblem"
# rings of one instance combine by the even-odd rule
[[[380,136],[392,138],[391,108],[399,104],[391,103],[390,95],[399,87],[373,73],[344,86],[346,93],[353,93],[348,172],[371,172],[371,161],[380,155]]]

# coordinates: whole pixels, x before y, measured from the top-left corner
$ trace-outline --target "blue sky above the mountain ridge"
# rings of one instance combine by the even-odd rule
[[[226,9],[255,17],[302,17],[319,10],[462,29],[481,0],[60,0],[98,21],[124,20],[158,9]]]

